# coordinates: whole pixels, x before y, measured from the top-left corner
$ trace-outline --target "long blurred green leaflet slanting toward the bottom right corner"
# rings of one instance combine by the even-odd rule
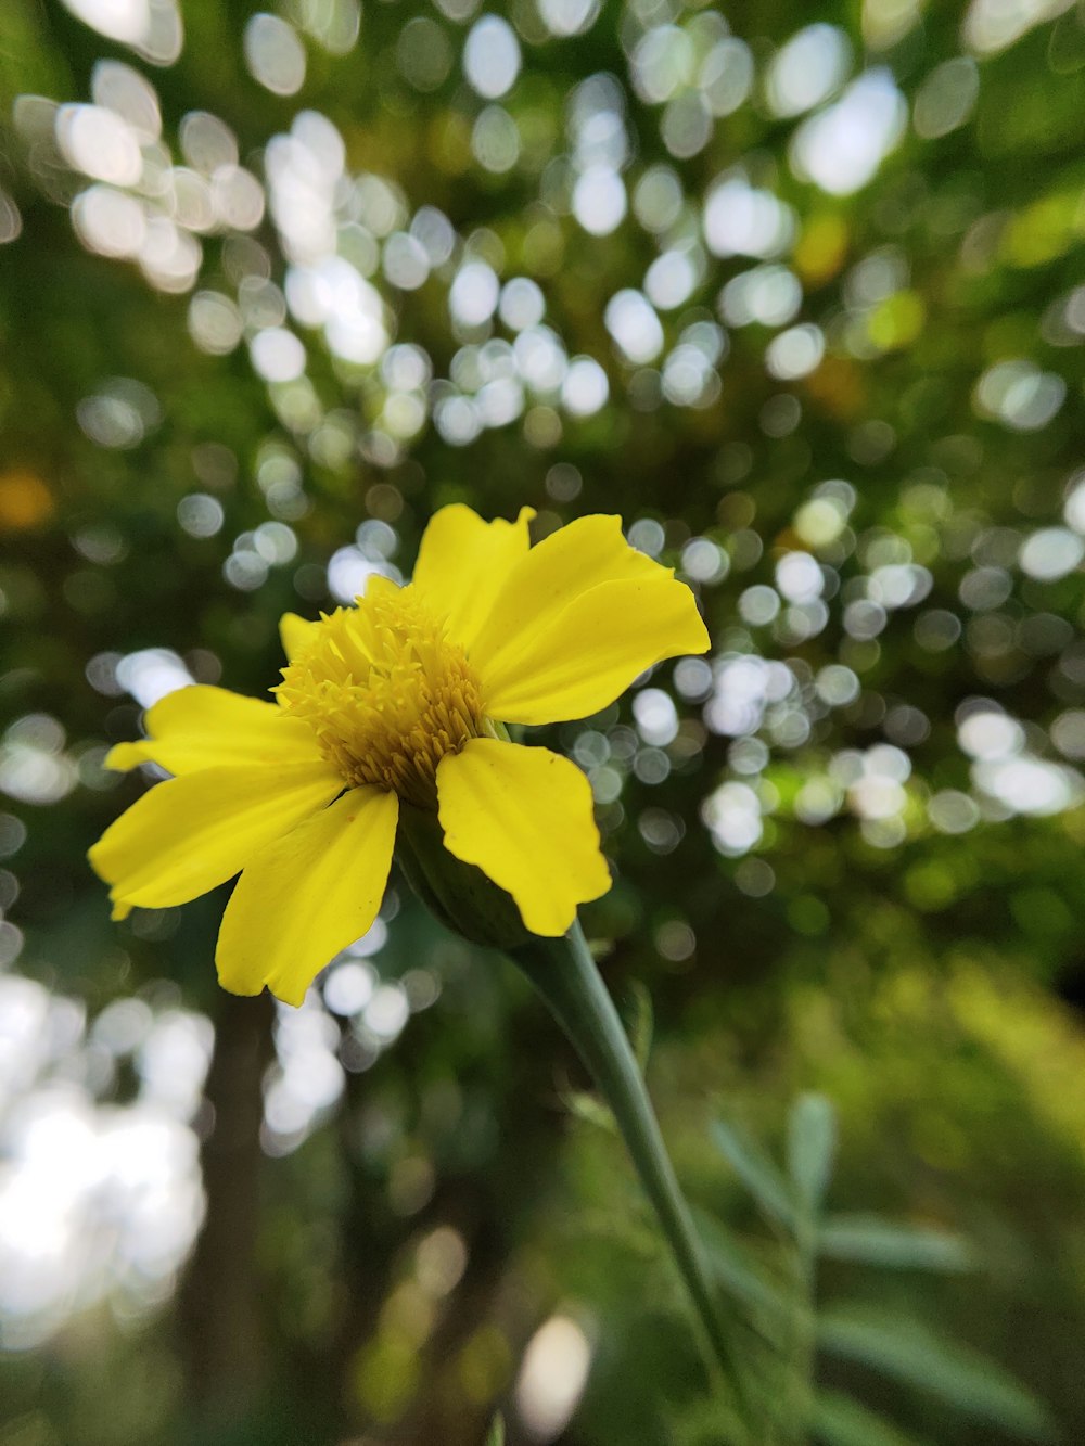
[[[1001,1366],[916,1320],[867,1307],[838,1307],[817,1322],[822,1349],[917,1387],[962,1414],[1031,1440],[1050,1436],[1043,1406]]]

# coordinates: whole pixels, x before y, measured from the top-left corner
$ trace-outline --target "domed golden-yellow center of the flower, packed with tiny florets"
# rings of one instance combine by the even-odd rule
[[[315,625],[273,691],[347,784],[373,784],[421,808],[435,807],[444,755],[488,732],[463,648],[409,587],[383,578],[357,607]]]

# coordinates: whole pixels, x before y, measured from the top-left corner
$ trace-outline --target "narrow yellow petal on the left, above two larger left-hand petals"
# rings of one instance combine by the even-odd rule
[[[197,685],[168,693],[146,717],[150,737],[117,743],[107,768],[159,763],[169,774],[229,763],[305,763],[321,758],[315,735],[275,703]]]

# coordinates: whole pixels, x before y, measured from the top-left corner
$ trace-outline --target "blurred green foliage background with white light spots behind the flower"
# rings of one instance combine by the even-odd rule
[[[548,742],[765,1439],[1072,1440],[1085,10],[492,13],[3,7],[0,1443],[742,1439],[502,960],[395,884],[273,1017],[84,860],[457,499],[710,625]]]

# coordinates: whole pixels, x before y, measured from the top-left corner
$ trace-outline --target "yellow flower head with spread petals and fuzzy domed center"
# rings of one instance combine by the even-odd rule
[[[586,717],[654,662],[705,652],[690,590],[589,516],[529,547],[516,522],[438,512],[414,580],[373,577],[356,607],[282,619],[275,703],[171,693],[110,768],[175,775],[91,849],[114,917],[184,904],[242,876],[216,962],[234,993],[299,1004],[370,927],[401,808],[437,814],[444,847],[563,934],[610,885],[580,769],[508,742],[505,723]]]

